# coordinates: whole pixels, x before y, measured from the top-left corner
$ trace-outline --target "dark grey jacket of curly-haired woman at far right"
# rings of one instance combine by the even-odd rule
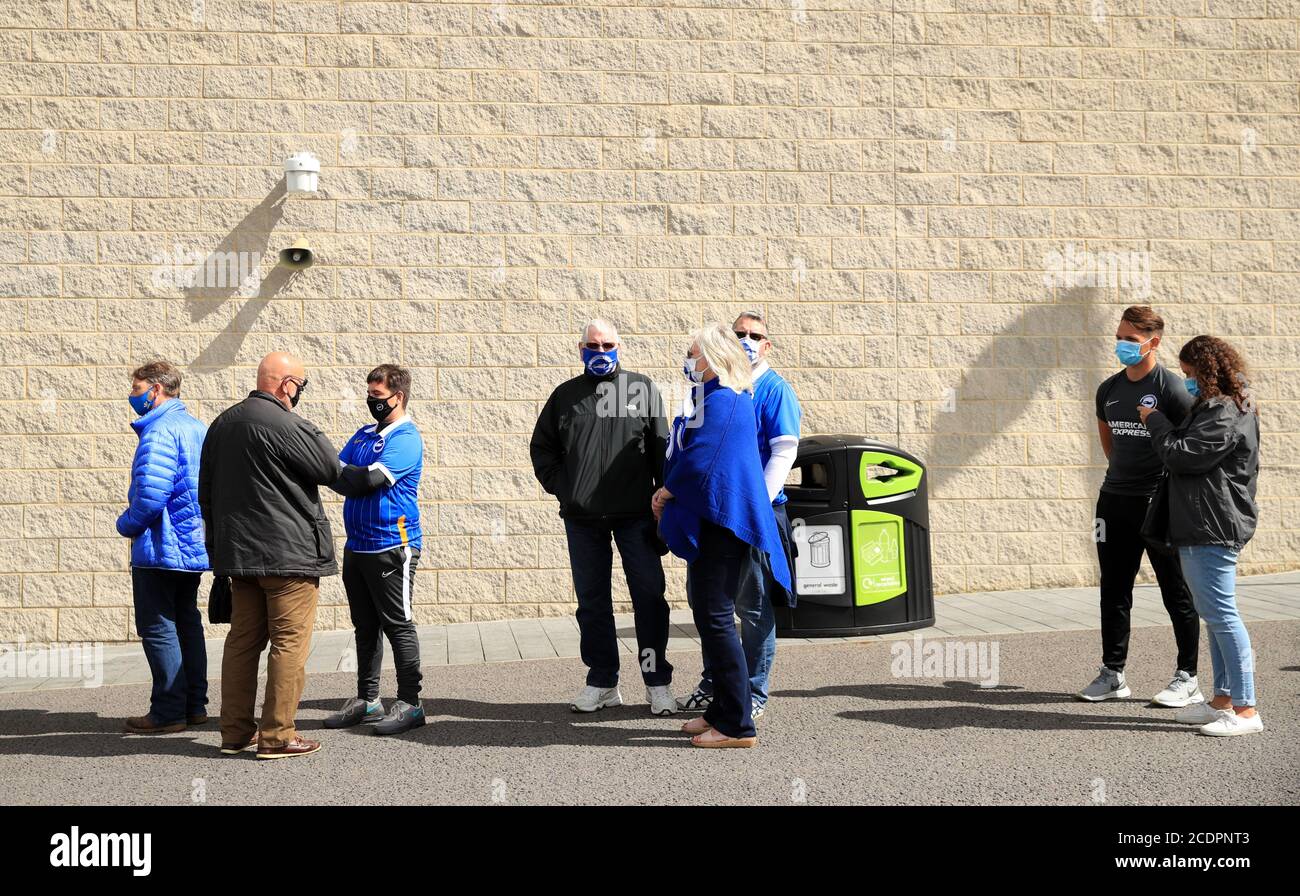
[[[1242,550],[1260,508],[1260,417],[1222,395],[1199,401],[1182,425],[1147,417],[1150,443],[1169,471],[1169,544]]]

